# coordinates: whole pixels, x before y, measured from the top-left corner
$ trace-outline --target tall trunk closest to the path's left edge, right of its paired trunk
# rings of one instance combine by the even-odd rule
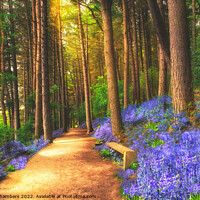
[[[44,139],[53,141],[51,132],[49,65],[48,65],[48,22],[47,0],[41,0],[41,66],[42,66],[42,111]]]

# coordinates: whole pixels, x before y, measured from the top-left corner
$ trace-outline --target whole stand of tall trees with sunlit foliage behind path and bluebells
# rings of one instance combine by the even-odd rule
[[[170,84],[175,112],[194,106],[189,36],[195,57],[199,3],[177,2],[1,1],[2,123],[17,130],[29,122],[37,138],[50,138],[45,124],[66,131],[86,121],[89,133],[91,116],[107,115],[121,134],[121,109],[169,93]],[[95,98],[107,84],[108,98]]]

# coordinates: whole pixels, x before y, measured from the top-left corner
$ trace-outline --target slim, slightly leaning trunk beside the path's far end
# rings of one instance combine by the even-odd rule
[[[84,90],[85,90],[85,108],[86,108],[86,124],[87,124],[87,133],[93,131],[92,122],[91,122],[91,113],[90,113],[90,100],[89,100],[89,86],[88,86],[88,75],[87,75],[87,63],[85,56],[85,47],[84,47],[84,36],[83,36],[83,27],[81,21],[81,11],[80,11],[80,3],[77,0],[78,7],[78,23],[80,30],[80,41],[81,41],[81,54],[82,54],[82,65],[83,65],[83,76],[84,76]]]

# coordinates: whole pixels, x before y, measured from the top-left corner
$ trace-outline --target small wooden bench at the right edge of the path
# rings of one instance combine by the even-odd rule
[[[134,150],[129,149],[128,147],[125,147],[125,146],[118,144],[116,142],[107,142],[106,145],[124,155],[124,157],[123,157],[123,171],[126,168],[130,167],[130,164],[133,161],[137,161],[137,152],[135,152]]]

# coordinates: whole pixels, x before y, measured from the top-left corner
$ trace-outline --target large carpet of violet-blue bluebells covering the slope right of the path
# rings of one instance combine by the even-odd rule
[[[195,95],[199,97],[199,93]],[[195,103],[197,110],[193,115],[199,119],[200,101],[196,99]],[[129,138],[127,144],[138,152],[139,163],[136,179],[130,179],[134,170],[119,169],[121,188],[127,198],[184,200],[200,193],[200,130],[192,126],[192,119],[184,113],[173,114],[171,97],[157,97],[139,107],[129,105],[121,115]],[[95,149],[109,149],[107,141],[118,142],[112,135],[110,118],[96,119],[92,125],[92,136],[105,139]],[[159,145],[152,145],[158,140]],[[114,150],[110,152],[117,156]]]

